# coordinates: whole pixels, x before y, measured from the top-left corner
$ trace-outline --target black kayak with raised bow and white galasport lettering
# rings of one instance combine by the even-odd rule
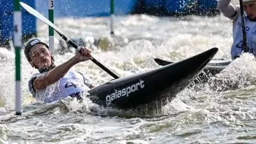
[[[152,101],[172,100],[205,68],[218,48],[211,48],[161,68],[110,80],[88,91],[87,97],[101,106],[136,108]]]

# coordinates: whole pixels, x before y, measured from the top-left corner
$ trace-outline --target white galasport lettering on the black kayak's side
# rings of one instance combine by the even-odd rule
[[[127,86],[126,88],[123,88],[122,90],[115,90],[114,93],[106,96],[106,101],[111,102],[116,100],[117,98],[120,98],[121,96],[129,96],[129,94],[134,93],[134,91],[137,91],[139,89],[144,88],[144,81],[139,80],[138,83],[135,83],[134,85]]]

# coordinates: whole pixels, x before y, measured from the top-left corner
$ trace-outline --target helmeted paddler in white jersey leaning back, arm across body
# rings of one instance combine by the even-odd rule
[[[39,71],[28,82],[33,97],[44,103],[51,103],[67,96],[80,99],[84,91],[94,86],[88,76],[70,68],[90,59],[90,53],[88,49],[82,47],[82,53],[77,52],[65,63],[55,66],[48,44],[40,38],[30,39],[24,45],[24,54],[31,66]]]

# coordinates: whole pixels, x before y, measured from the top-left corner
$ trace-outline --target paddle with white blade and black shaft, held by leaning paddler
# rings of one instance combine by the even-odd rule
[[[73,41],[71,41],[67,36],[65,36],[60,29],[58,29],[55,24],[51,23],[51,21],[49,21],[48,19],[46,19],[43,15],[41,15],[40,13],[38,13],[38,11],[36,11],[35,9],[31,8],[30,6],[28,6],[25,3],[19,2],[19,4],[21,4],[21,6],[26,9],[26,11],[28,11],[28,13],[33,14],[36,18],[40,19],[41,21],[43,21],[44,23],[48,24],[49,26],[51,26],[51,28],[55,29],[55,31],[60,34],[61,38],[63,38],[65,41],[67,41],[67,43],[69,43],[71,46],[73,46],[73,48],[77,49],[77,51],[80,51],[80,46],[78,46],[77,44],[75,44]],[[119,78],[119,76],[115,75],[112,71],[110,71],[108,68],[106,68],[103,64],[101,64],[99,61],[97,61],[95,58],[90,58],[91,61],[93,61],[93,63],[97,64],[100,68],[104,69],[104,71],[106,71],[107,73],[109,73],[109,75],[113,76],[115,79]]]

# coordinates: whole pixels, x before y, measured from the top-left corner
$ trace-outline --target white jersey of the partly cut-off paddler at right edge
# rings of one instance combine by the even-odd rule
[[[256,55],[256,21],[250,21],[248,16],[244,16],[245,30],[247,36],[248,53]],[[237,16],[233,19],[233,44],[231,48],[231,56],[234,59],[242,54],[243,51],[243,32],[240,8],[237,6]]]

